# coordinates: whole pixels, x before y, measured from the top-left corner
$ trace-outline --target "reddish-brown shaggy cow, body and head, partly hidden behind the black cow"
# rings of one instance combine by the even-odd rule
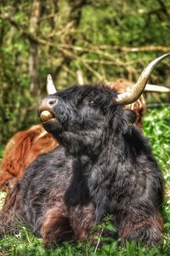
[[[132,82],[126,79],[117,79],[110,86],[122,93],[132,86]],[[138,101],[127,105],[125,108],[131,109],[136,113],[136,125],[141,129],[145,110],[144,96],[140,96]],[[42,125],[34,125],[26,131],[17,132],[9,140],[3,155],[0,189],[8,190],[13,185],[16,177],[23,177],[26,167],[39,154],[48,153],[57,146],[58,143],[51,134],[42,128]]]

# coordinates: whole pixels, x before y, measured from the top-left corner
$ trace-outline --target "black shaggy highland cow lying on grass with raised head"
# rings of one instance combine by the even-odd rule
[[[133,116],[122,106],[141,95],[167,55],[150,62],[133,89],[121,95],[105,85],[84,85],[42,100],[42,125],[60,146],[34,160],[8,193],[1,235],[14,231],[19,218],[46,247],[83,241],[109,213],[122,243],[154,246],[161,240],[161,172],[147,139],[129,124]]]

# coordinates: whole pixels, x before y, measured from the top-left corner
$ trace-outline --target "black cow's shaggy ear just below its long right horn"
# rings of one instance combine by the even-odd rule
[[[123,134],[129,131],[129,126],[136,122],[136,113],[133,110],[125,109],[123,110],[124,122],[123,122]]]

